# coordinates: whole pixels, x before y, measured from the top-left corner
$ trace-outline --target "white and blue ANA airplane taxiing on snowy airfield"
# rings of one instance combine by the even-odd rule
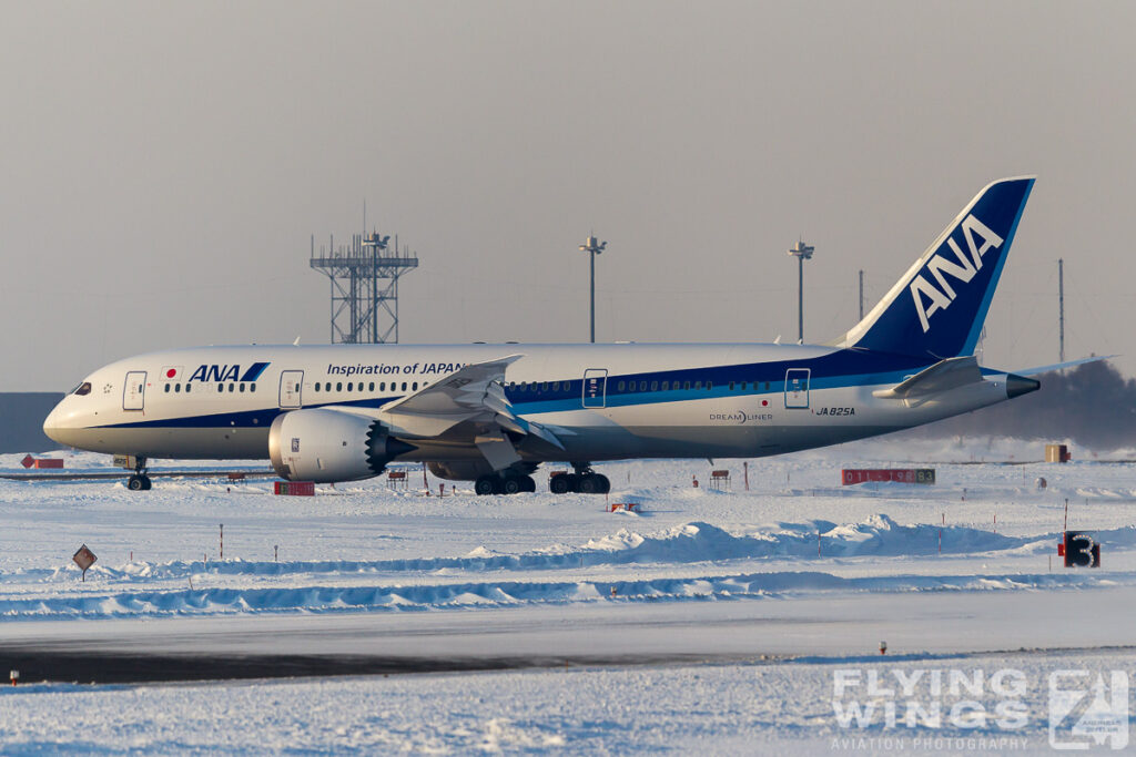
[[[133,490],[150,488],[152,459],[267,457],[315,482],[423,462],[490,495],[535,491],[542,463],[571,465],[553,493],[603,494],[593,463],[762,457],[929,423],[1041,386],[975,356],[1034,180],[983,188],[828,344],[170,350],[98,369],[43,430],[128,455]]]

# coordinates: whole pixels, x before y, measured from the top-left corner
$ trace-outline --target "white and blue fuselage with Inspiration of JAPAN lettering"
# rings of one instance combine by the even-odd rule
[[[1001,376],[910,402],[878,398],[932,363],[810,345],[329,345],[156,352],[85,379],[44,423],[53,439],[111,454],[264,459],[281,413],[387,405],[462,365],[521,355],[503,387],[517,415],[562,451],[526,461],[757,457],[885,434],[1006,398]],[[408,461],[476,459],[443,436]],[[535,455],[535,456],[534,456]]]

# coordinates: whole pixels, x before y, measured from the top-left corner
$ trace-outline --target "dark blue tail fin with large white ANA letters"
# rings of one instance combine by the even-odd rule
[[[1034,177],[987,185],[837,346],[937,359],[970,355]]]

